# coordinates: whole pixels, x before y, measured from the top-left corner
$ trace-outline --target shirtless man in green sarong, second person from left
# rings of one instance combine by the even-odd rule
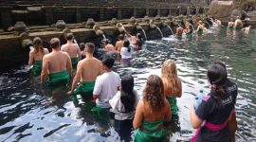
[[[67,53],[60,51],[61,44],[58,38],[50,40],[50,47],[52,52],[43,58],[41,82],[46,82],[48,75],[49,80],[47,82],[49,85],[67,83],[72,72],[70,57]]]

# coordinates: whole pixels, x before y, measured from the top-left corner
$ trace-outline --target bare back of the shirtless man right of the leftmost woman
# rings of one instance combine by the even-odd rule
[[[48,74],[64,71],[68,68],[68,65],[71,65],[68,54],[60,51],[47,54],[45,61],[48,66]],[[68,64],[68,62],[70,62],[70,64]]]

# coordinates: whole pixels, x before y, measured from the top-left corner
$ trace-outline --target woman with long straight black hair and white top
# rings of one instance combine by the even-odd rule
[[[126,75],[121,79],[120,91],[109,100],[110,111],[115,114],[115,130],[119,133],[121,141],[130,141],[131,139],[137,101],[134,78],[131,75]]]

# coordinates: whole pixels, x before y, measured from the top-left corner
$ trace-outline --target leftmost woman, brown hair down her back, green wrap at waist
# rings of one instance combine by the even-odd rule
[[[41,38],[36,37],[33,40],[34,48],[29,52],[28,65],[33,65],[30,73],[33,76],[39,76],[42,71],[42,61],[43,57],[49,53],[47,48],[43,47],[43,41]]]

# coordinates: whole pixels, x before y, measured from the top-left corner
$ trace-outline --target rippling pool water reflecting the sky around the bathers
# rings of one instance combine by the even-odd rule
[[[148,41],[131,62],[114,70],[122,77],[132,74],[141,95],[150,74],[160,75],[162,62],[174,60],[182,79],[183,94],[177,99],[179,118],[173,123],[171,141],[189,141],[192,129],[190,108],[195,93],[208,85],[207,68],[211,61],[225,62],[229,78],[239,87],[236,103],[238,142],[256,141],[256,30],[249,34],[211,28],[198,38],[174,37]],[[0,72],[0,141],[119,141],[115,131],[122,126],[106,115],[90,112],[91,103],[80,99],[74,105],[64,90],[42,87],[29,78],[25,65]],[[115,127],[114,127],[115,126]],[[134,132],[132,132],[133,138]]]

